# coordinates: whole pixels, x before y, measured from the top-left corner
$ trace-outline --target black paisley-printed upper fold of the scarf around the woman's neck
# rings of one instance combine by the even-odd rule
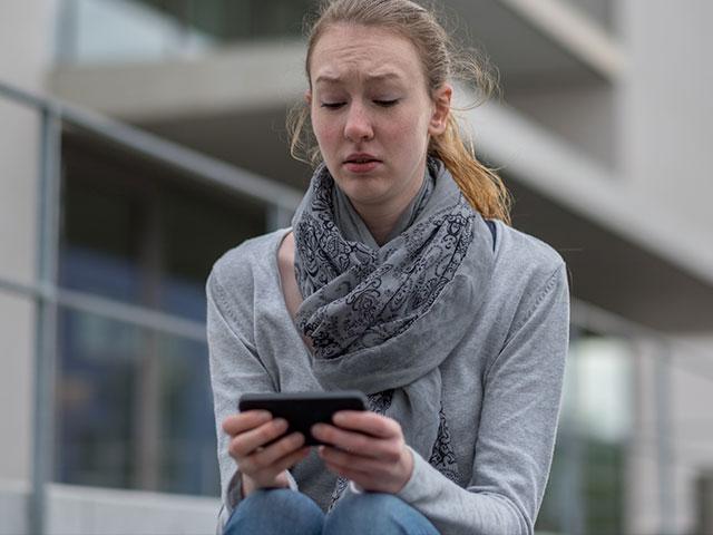
[[[305,299],[296,324],[320,359],[379,346],[408,330],[453,278],[473,227],[473,211],[461,197],[373,250],[342,236],[333,187],[323,167],[294,227],[295,272]]]

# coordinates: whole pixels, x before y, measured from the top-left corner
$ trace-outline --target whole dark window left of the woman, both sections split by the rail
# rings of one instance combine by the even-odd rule
[[[265,206],[79,136],[62,156],[60,286],[204,322],[213,263]],[[204,340],[62,308],[58,348],[58,481],[217,495]]]

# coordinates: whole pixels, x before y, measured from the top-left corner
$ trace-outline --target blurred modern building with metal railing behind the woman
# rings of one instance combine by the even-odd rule
[[[0,0],[0,534],[213,533],[204,284],[307,183],[313,4]],[[500,75],[465,132],[570,270],[538,532],[713,534],[713,2],[436,4]]]

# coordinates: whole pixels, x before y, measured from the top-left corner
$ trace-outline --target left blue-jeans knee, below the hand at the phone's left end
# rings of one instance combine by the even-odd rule
[[[235,508],[225,535],[321,534],[324,514],[307,496],[286,488],[255,490]]]

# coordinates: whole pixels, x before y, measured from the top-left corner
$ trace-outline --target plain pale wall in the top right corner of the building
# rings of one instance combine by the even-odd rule
[[[713,230],[713,2],[626,0],[627,175],[682,233]],[[713,239],[701,246],[711,247]]]

